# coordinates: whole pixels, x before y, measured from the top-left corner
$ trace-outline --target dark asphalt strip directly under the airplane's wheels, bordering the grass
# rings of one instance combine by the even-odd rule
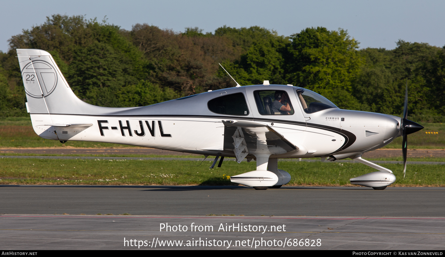
[[[442,217],[445,188],[0,185],[0,213]]]

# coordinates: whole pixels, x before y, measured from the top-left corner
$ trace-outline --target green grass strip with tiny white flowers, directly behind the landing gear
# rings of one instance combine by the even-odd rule
[[[209,169],[211,161],[49,160],[0,159],[0,184],[32,185],[236,185],[230,176],[256,169],[256,163],[224,161]],[[188,166],[190,165],[190,166]],[[397,177],[394,186],[445,186],[445,165],[382,165]],[[374,172],[352,163],[279,162],[291,174],[288,185],[350,185],[349,179]]]

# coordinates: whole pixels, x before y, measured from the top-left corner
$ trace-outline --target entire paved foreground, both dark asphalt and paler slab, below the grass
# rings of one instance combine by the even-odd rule
[[[1,185],[0,195],[2,249],[399,250],[443,249],[445,242],[444,188]],[[124,213],[132,215],[116,215]],[[188,228],[161,232],[160,223]],[[226,223],[230,232],[221,230],[230,229]],[[238,223],[251,231],[239,232]],[[200,232],[205,225],[213,231]],[[142,246],[124,246],[124,237]]]

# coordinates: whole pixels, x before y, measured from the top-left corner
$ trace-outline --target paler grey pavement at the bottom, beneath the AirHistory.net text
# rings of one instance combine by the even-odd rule
[[[160,231],[161,224],[172,231]],[[187,231],[178,231],[178,225],[182,230],[185,225]],[[445,217],[3,215],[0,240],[4,250],[360,249],[392,253],[443,249],[444,226]]]

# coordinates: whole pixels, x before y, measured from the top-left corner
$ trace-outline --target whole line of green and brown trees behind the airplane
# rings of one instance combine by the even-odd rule
[[[24,116],[26,101],[16,48],[50,52],[76,95],[90,104],[130,107],[241,85],[293,84],[340,108],[401,116],[405,85],[409,118],[445,120],[445,48],[397,42],[359,49],[339,28],[306,28],[291,36],[253,26],[214,33],[53,15],[9,40],[0,52],[0,116]]]

